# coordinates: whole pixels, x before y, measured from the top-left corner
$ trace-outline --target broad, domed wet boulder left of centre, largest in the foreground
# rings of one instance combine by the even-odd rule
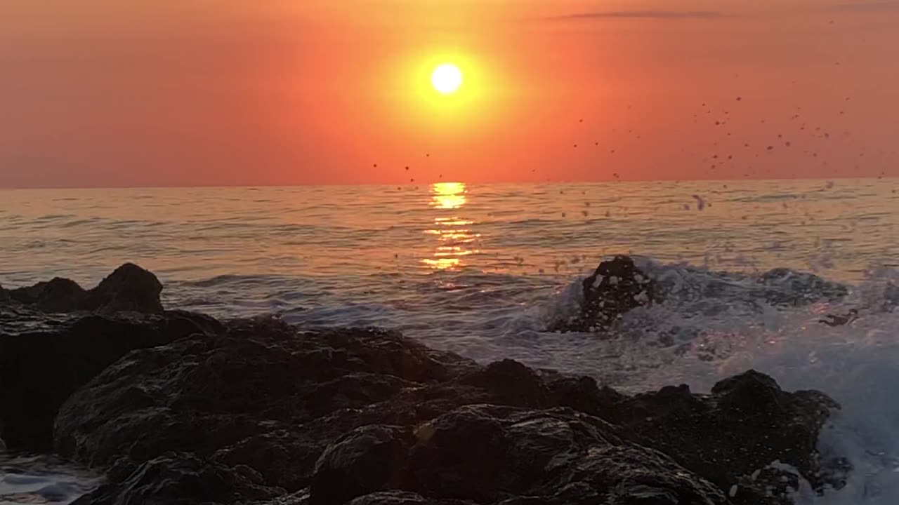
[[[60,410],[56,447],[91,465],[180,448],[248,458],[296,490],[331,441],[417,408],[412,399],[378,403],[471,367],[394,332],[298,334],[276,320],[238,321],[215,338],[141,350],[107,368]]]

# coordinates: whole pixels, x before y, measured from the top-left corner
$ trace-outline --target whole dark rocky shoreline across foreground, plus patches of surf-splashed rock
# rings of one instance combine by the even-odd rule
[[[617,286],[634,299],[589,284]],[[165,310],[161,290],[131,264],[0,288],[0,438],[105,471],[77,505],[783,505],[850,472],[816,451],[839,405],[752,370],[628,396],[396,332]]]

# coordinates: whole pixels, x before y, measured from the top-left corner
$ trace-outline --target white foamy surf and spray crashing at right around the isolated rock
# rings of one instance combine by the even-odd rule
[[[899,503],[899,271],[871,268],[858,285],[841,287],[790,270],[733,274],[637,264],[663,287],[663,303],[631,311],[613,335],[555,335],[559,347],[581,346],[577,353],[556,350],[562,368],[574,365],[630,392],[678,383],[708,391],[749,368],[789,391],[823,391],[842,409],[819,448],[825,458],[847,458],[854,470],[845,487],[823,496],[801,483],[797,504]],[[580,287],[581,279],[573,280],[522,317],[545,327],[571,315]],[[802,303],[785,303],[796,300]],[[850,309],[858,320],[820,322]]]

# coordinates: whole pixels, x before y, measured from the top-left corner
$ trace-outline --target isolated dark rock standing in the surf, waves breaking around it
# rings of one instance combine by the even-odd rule
[[[629,256],[615,256],[610,261],[602,261],[590,277],[583,279],[580,314],[570,321],[556,323],[551,330],[608,330],[628,311],[653,301],[654,280],[637,268]]]

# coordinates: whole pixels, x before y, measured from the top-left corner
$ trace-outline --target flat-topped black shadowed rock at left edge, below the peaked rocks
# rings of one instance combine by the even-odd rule
[[[14,318],[18,323],[13,323]],[[52,446],[59,406],[130,350],[163,345],[221,324],[185,312],[165,315],[0,315],[0,437],[10,448]],[[14,408],[13,408],[14,405]]]

